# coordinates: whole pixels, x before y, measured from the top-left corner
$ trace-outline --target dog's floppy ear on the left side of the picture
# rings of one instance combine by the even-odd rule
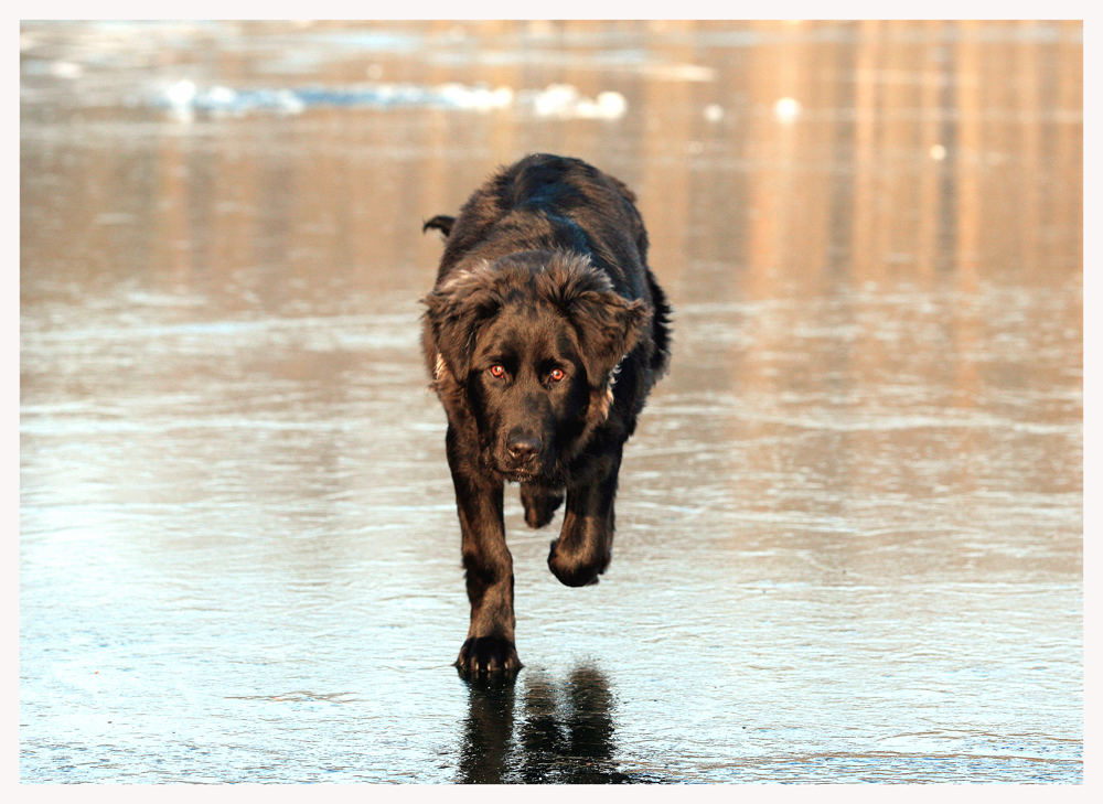
[[[451,277],[422,301],[433,344],[445,367],[463,383],[471,369],[475,337],[480,328],[499,311],[499,297],[486,272],[475,269]]]

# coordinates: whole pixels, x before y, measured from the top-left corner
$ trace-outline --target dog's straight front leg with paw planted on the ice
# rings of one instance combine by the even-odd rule
[[[448,429],[448,465],[456,486],[456,507],[463,543],[463,569],[471,625],[456,666],[465,674],[515,672],[521,668],[514,646],[513,557],[505,546],[502,481],[481,470]]]

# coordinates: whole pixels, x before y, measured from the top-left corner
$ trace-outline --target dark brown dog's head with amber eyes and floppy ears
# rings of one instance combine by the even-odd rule
[[[650,317],[586,257],[525,251],[463,270],[426,298],[438,387],[467,399],[483,461],[555,482],[609,414],[612,373]]]

